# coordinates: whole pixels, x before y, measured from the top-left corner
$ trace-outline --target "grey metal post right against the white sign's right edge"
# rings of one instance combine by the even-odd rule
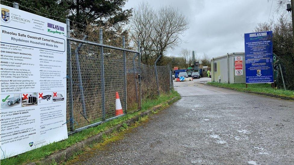
[[[66,22],[66,29],[67,29],[67,38],[70,38],[70,20],[65,19]],[[69,87],[70,89],[68,90],[68,95],[69,95],[69,118],[70,118],[70,131],[74,130],[73,126],[73,121],[74,121],[74,116],[73,116],[73,80],[72,80],[72,66],[71,66],[71,48],[70,48],[70,40],[67,39],[67,68],[69,69],[68,71],[68,76],[69,76]]]

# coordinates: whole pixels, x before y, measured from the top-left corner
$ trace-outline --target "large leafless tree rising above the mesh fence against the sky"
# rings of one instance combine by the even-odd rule
[[[154,9],[143,1],[134,9],[130,29],[133,37],[141,41],[142,57],[148,64],[167,50],[178,47],[188,25],[188,18],[177,8]]]

